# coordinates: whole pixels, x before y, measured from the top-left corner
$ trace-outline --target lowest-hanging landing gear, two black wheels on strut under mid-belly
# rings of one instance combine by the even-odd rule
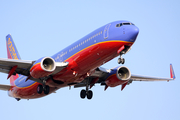
[[[86,96],[87,96],[87,99],[89,99],[89,100],[93,97],[93,92],[91,90],[89,90],[89,78],[86,82],[86,90],[83,89],[80,92],[80,97],[82,99],[84,99]]]

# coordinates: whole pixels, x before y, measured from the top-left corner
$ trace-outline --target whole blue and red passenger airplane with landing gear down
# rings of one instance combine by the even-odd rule
[[[105,86],[104,90],[121,85],[123,90],[133,81],[174,80],[172,64],[170,78],[134,75],[124,65],[111,69],[101,67],[118,56],[118,64],[124,64],[122,55],[131,49],[138,33],[138,27],[130,21],[111,22],[58,53],[38,60],[21,60],[12,36],[8,34],[8,59],[0,58],[0,72],[8,74],[10,85],[0,84],[0,90],[8,91],[10,97],[19,101],[44,97],[63,87],[84,87],[80,97],[90,100],[93,97],[90,89],[95,84]]]

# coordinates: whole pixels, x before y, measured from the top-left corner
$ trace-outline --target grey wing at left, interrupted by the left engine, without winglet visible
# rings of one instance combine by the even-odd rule
[[[9,74],[9,71],[14,67],[17,66],[15,72],[12,75],[21,74],[24,76],[30,75],[30,68],[32,67],[35,61],[30,60],[16,60],[16,59],[4,59],[0,58],[0,72]],[[52,74],[60,72],[63,68],[67,67],[68,63],[64,62],[56,62],[56,69]],[[31,77],[31,80],[40,82],[39,79],[34,79]],[[40,82],[41,83],[41,82]]]

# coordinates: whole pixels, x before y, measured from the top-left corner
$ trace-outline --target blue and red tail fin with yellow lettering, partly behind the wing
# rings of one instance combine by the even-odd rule
[[[21,59],[17,51],[17,48],[14,44],[14,41],[10,34],[6,36],[6,47],[7,47],[7,56],[9,59]],[[14,81],[19,77],[18,74],[12,75],[10,77],[10,83],[13,85]]]

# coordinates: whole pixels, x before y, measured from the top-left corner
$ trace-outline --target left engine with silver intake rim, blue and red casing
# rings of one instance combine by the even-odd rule
[[[54,72],[56,64],[51,57],[44,57],[37,60],[30,69],[30,75],[33,78],[46,77]]]

